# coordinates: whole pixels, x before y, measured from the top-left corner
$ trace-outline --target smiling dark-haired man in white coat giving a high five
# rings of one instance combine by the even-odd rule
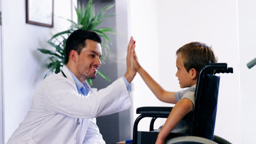
[[[105,143],[96,117],[131,107],[128,93],[136,75],[132,65],[135,40],[127,47],[127,70],[107,88],[91,94],[86,79],[94,79],[101,65],[101,38],[77,30],[66,42],[65,66],[61,73],[43,80],[32,99],[30,111],[14,131],[12,143]]]

